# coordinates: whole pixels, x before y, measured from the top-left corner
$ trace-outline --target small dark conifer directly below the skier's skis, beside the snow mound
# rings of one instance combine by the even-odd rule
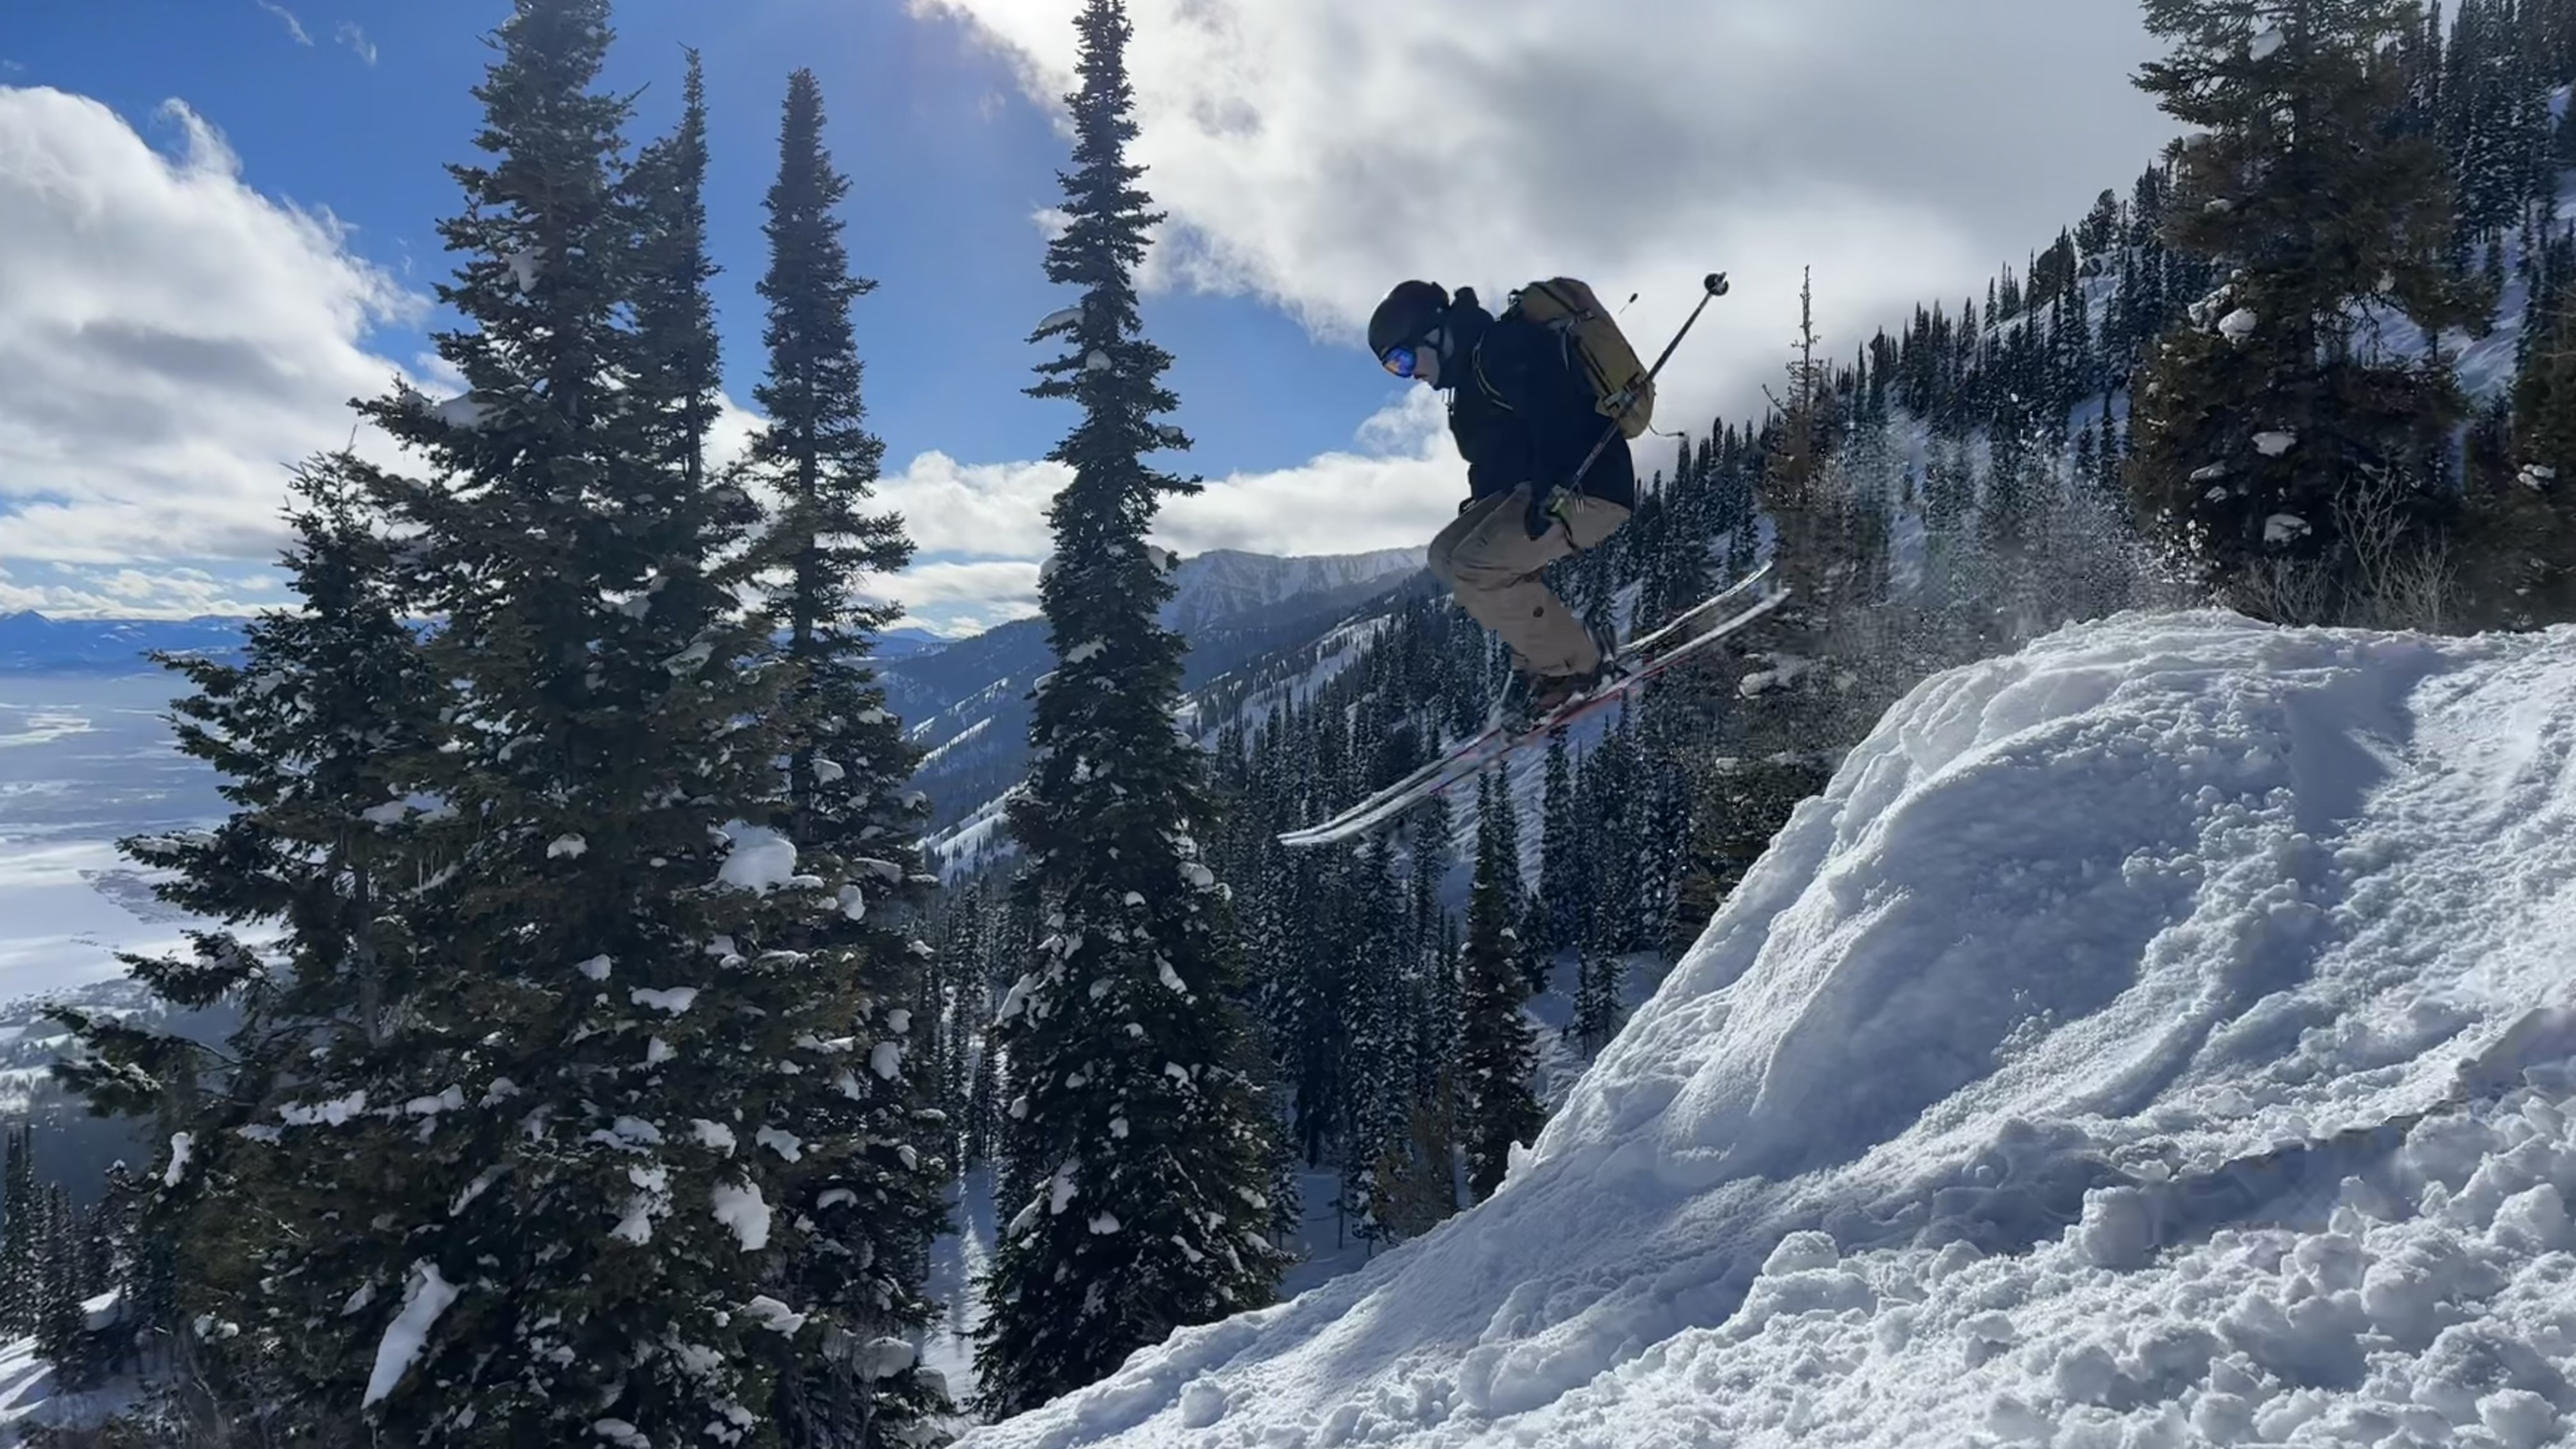
[[[1502,838],[1504,781],[1486,773],[1479,781],[1484,825],[1476,830],[1476,884],[1468,895],[1466,959],[1461,962],[1461,1039],[1458,1080],[1466,1096],[1461,1137],[1466,1140],[1468,1191],[1479,1199],[1502,1186],[1512,1165],[1512,1145],[1538,1137],[1546,1114],[1530,1096],[1530,1070],[1538,1065],[1538,1039],[1520,1011],[1528,982],[1512,944],[1507,877],[1512,871]]]

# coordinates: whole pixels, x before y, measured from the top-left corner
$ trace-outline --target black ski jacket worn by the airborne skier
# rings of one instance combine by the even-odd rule
[[[1466,459],[1468,498],[1494,498],[1520,485],[1533,495],[1574,480],[1584,454],[1602,441],[1610,420],[1592,410],[1592,384],[1569,340],[1520,317],[1494,320],[1476,302],[1448,315],[1458,338],[1458,376],[1443,376],[1450,389],[1450,436]],[[1628,438],[1592,462],[1582,492],[1636,508],[1636,459]]]

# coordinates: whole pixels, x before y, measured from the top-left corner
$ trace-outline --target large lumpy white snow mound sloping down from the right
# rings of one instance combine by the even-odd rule
[[[2566,1444],[2576,629],[1937,676],[1502,1191],[976,1449]]]

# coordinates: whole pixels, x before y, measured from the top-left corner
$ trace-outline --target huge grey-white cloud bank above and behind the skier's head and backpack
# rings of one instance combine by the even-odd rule
[[[1077,0],[909,0],[971,21],[1046,106]],[[1814,263],[1837,356],[1984,291],[2174,131],[2128,85],[2133,0],[1131,0],[1162,284],[1358,335],[1404,276],[1574,273],[1662,348],[1674,415],[1759,407]],[[1615,23],[1613,23],[1615,21]]]

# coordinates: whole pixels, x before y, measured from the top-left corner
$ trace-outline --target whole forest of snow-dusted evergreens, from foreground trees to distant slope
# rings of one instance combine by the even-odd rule
[[[858,585],[909,544],[868,511],[814,77],[765,199],[765,425],[719,467],[696,62],[629,150],[608,0],[518,0],[443,222],[469,392],[361,402],[410,469],[309,459],[301,606],[165,660],[234,812],[126,853],[227,928],[129,964],[240,1024],[59,1011],[62,1080],[155,1158],[46,1183],[10,1137],[0,1328],[70,1387],[144,1372],[106,1444],[935,1444],[1270,1302],[1316,1209],[1376,1245],[1494,1191],[1543,1060],[1600,1052],[1929,673],[2133,606],[2576,619],[2576,0],[2272,10],[2146,0],[2138,83],[2192,139],[1984,302],[1808,322],[1759,420],[1680,438],[1561,565],[1643,629],[1767,562],[1790,601],[1734,657],[1285,851],[1479,724],[1502,657],[1414,580],[1321,683],[1291,652],[1172,730],[1146,536],[1195,485],[1146,462],[1188,438],[1136,297],[1131,23],[1087,0],[1072,307],[1030,338],[1074,477],[1059,668],[1010,848],[943,882],[868,665]],[[969,1173],[1002,1222],[971,1395],[920,1361]]]

